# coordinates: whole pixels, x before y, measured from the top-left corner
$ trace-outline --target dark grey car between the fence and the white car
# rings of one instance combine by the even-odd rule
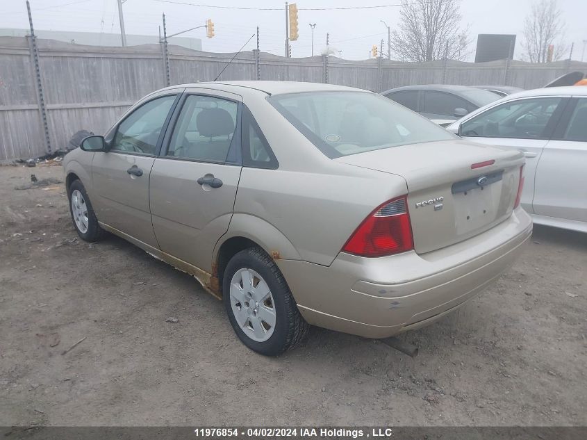
[[[465,85],[406,85],[381,93],[420,115],[447,125],[479,107],[497,101],[495,93]]]

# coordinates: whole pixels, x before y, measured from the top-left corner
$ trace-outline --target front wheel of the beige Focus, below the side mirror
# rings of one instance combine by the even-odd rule
[[[104,238],[106,231],[98,224],[98,219],[92,209],[90,198],[81,181],[74,180],[67,190],[69,199],[69,213],[72,215],[74,227],[83,241],[99,241]]]

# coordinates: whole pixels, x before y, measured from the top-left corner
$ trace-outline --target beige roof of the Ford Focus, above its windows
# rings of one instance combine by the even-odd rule
[[[213,87],[210,87],[213,86]],[[238,93],[239,90],[249,89],[264,92],[267,95],[281,95],[282,93],[299,93],[299,92],[324,92],[324,91],[354,91],[368,92],[345,85],[324,84],[324,83],[305,83],[301,81],[210,81],[206,83],[189,83],[174,85],[178,87],[195,87],[195,88],[215,88],[226,90],[227,92]]]

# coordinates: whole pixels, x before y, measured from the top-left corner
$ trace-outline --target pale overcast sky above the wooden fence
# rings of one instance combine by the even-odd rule
[[[522,51],[524,16],[533,0],[462,0],[463,26],[470,25],[474,44],[479,33],[514,33],[515,57]],[[183,3],[183,4],[181,4]],[[192,4],[190,4],[192,3]],[[193,6],[195,4],[199,6]],[[380,6],[399,0],[299,0],[298,8],[333,8],[349,6]],[[210,6],[240,6],[245,8],[276,8],[278,10],[235,10]],[[261,28],[261,50],[283,55],[285,34],[284,1],[277,0],[126,0],[124,24],[126,33],[158,35],[161,14],[167,16],[167,31],[175,33],[204,24],[210,18],[215,23],[215,38],[206,38],[204,28],[184,36],[201,38],[205,51],[237,51]],[[572,58],[580,60],[587,40],[587,0],[559,0],[566,24],[565,41],[574,42]],[[92,31],[119,33],[117,0],[31,0],[35,28],[53,31]],[[300,10],[299,40],[292,42],[292,56],[310,56],[311,28],[316,23],[314,54],[319,54],[330,34],[331,47],[342,50],[342,58],[367,58],[370,47],[387,43],[387,29],[399,21],[399,7],[363,8],[352,10]],[[28,28],[24,0],[0,0],[0,28]],[[172,42],[172,40],[170,40]],[[251,40],[245,50],[254,49]],[[587,54],[585,54],[587,57]],[[564,58],[567,58],[568,54]],[[586,58],[587,60],[587,58]]]

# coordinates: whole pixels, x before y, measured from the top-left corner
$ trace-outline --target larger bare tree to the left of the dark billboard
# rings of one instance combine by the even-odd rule
[[[463,60],[469,28],[461,28],[461,0],[402,0],[393,51],[402,61]]]

